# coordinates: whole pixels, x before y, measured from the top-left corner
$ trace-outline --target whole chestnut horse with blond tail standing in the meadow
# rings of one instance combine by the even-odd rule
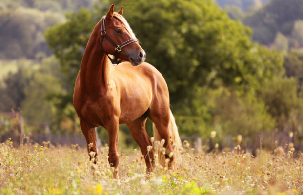
[[[153,122],[155,141],[165,141],[165,158],[169,158],[170,169],[176,166],[175,156],[179,155],[178,147],[181,146],[170,110],[167,84],[154,66],[144,62],[146,54],[122,14],[123,7],[114,12],[112,4],[94,27],[73,96],[88,154],[94,152],[96,156],[94,163],[98,159],[95,128],[103,126],[108,132],[108,162],[114,167],[113,178],[116,179],[119,179],[119,124],[126,123],[139,145],[147,174],[155,166],[155,151],[150,150],[154,145],[145,130],[148,117]],[[115,59],[111,55],[115,55]],[[120,63],[118,58],[125,62]]]

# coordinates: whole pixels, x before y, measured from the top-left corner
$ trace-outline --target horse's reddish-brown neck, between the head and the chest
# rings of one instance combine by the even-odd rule
[[[94,45],[95,40],[90,38],[81,62],[80,82],[85,90],[106,90],[112,82],[112,63],[104,52],[100,52]]]

